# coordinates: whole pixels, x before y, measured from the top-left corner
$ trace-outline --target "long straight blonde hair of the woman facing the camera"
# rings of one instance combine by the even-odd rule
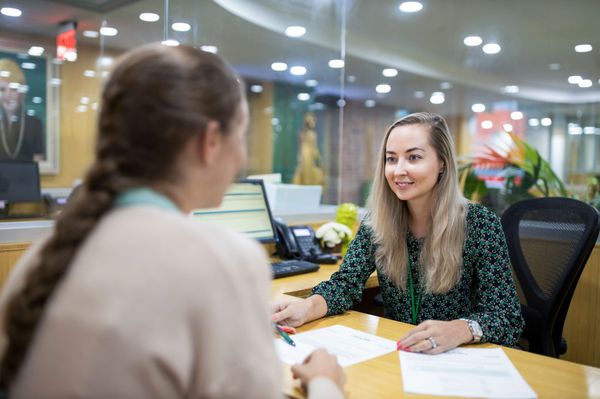
[[[378,245],[375,257],[380,271],[398,287],[406,289],[409,211],[406,202],[396,197],[385,178],[385,150],[390,132],[398,126],[407,125],[429,128],[429,143],[445,165],[433,188],[432,203],[435,206],[431,209],[431,228],[423,242],[419,260],[425,291],[443,294],[450,291],[461,276],[467,203],[459,189],[454,141],[444,118],[419,112],[407,115],[390,126],[379,151],[367,205],[367,223],[373,230],[374,243]]]

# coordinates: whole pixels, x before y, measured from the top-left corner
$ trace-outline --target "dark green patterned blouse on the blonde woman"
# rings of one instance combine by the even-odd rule
[[[413,281],[419,286],[419,253],[422,239],[407,238]],[[378,269],[372,231],[362,223],[348,247],[338,272],[313,288],[327,302],[327,315],[343,313],[358,304],[365,282]],[[499,218],[478,204],[468,204],[467,236],[463,249],[463,271],[457,285],[446,294],[425,294],[417,324],[425,320],[467,318],[479,323],[482,342],[514,346],[524,322],[511,276],[506,239]],[[411,323],[408,290],[399,289],[379,269],[379,287],[388,318]]]

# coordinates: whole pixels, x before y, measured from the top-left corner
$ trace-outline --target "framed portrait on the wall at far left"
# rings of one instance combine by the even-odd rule
[[[59,170],[58,88],[51,69],[44,55],[0,49],[0,160],[34,160],[45,174]]]

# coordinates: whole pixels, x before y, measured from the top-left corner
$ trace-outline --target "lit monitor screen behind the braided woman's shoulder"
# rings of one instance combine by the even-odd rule
[[[196,209],[194,220],[216,223],[263,243],[275,242],[271,209],[262,180],[241,180],[227,189],[221,206]]]

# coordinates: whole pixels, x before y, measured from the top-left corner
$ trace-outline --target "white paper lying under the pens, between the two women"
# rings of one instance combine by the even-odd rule
[[[344,326],[331,326],[291,336],[296,346],[275,339],[282,362],[293,365],[317,348],[325,348],[342,367],[351,366],[396,350],[396,342]]]

